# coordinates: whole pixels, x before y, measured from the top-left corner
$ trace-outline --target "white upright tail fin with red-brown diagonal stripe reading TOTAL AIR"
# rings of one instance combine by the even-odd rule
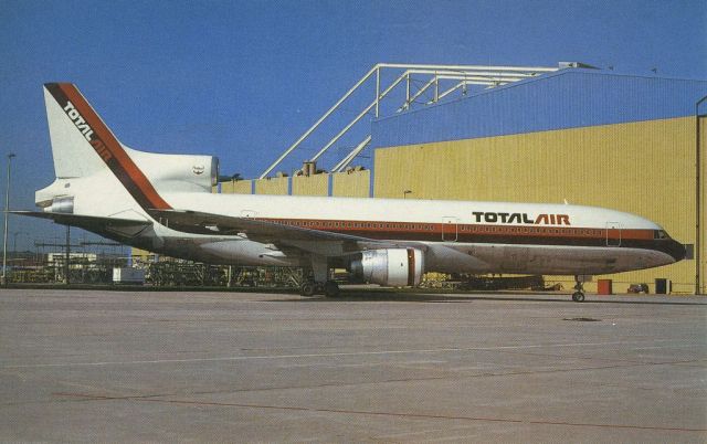
[[[44,99],[57,179],[84,178],[108,168],[144,209],[171,208],[76,86],[45,84]]]

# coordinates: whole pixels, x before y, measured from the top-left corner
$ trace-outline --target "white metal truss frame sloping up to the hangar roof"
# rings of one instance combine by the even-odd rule
[[[441,99],[450,96],[454,92],[462,91],[462,94],[467,93],[467,86],[485,86],[495,87],[507,85],[511,82],[518,82],[525,78],[534,77],[539,74],[555,72],[559,67],[547,66],[485,66],[485,65],[422,65],[422,64],[395,64],[395,63],[379,63],[373,66],[361,80],[359,80],[349,91],[341,96],[317,121],[315,121],[309,129],[307,129],[294,144],[292,144],[278,158],[275,160],[263,173],[260,176],[264,179],[270,175],[291,152],[302,145],[321,124],[327,120],[337,109],[339,109],[347,99],[351,97],[354,93],[365,87],[369,81],[374,78],[376,89],[372,102],[365,106],[360,113],[350,120],[344,128],[338,131],[328,142],[326,142],[317,154],[309,159],[316,161],[319,159],[329,148],[331,148],[341,137],[344,137],[352,127],[359,124],[363,117],[371,112],[376,118],[381,117],[381,101],[390,95],[399,85],[405,87],[405,99],[400,106],[397,107],[397,113],[409,109],[413,104],[418,104],[416,99],[423,96],[425,93],[430,94],[432,89],[432,97],[425,99],[422,105],[430,105],[440,102]],[[381,73],[392,73],[394,80],[386,87],[382,87]],[[389,75],[390,76],[390,75]],[[423,85],[413,92],[413,86],[416,83],[424,82]],[[444,83],[444,86],[441,86]],[[354,159],[370,144],[371,136],[368,135],[360,144],[349,151],[340,161],[338,161],[331,171],[344,171]]]

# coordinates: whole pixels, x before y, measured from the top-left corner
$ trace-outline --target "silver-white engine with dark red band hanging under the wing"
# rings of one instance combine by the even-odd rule
[[[424,254],[416,249],[369,250],[351,262],[350,271],[368,283],[413,287],[422,282]]]

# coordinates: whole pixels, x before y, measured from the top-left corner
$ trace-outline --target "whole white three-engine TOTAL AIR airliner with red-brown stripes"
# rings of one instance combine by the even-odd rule
[[[304,267],[304,296],[336,296],[336,267],[393,287],[425,272],[574,275],[583,302],[582,275],[685,257],[658,224],[594,207],[214,193],[218,158],[126,147],[73,84],[45,84],[44,99],[55,180],[41,211],[14,213],[172,257]]]

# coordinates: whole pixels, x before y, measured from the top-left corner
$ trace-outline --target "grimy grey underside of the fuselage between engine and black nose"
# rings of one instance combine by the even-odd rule
[[[456,255],[432,254],[428,268],[447,273],[608,274],[672,264],[654,250],[557,245],[443,244]],[[440,247],[431,251],[441,252]],[[426,257],[425,257],[426,260]]]

